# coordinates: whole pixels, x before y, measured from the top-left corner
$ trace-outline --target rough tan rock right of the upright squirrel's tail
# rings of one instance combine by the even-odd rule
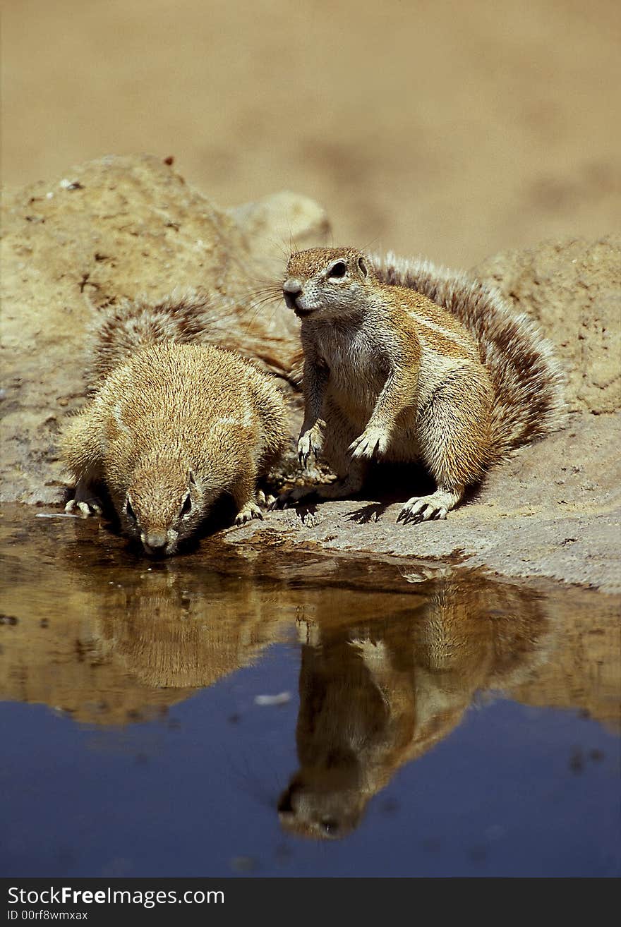
[[[537,319],[557,346],[572,411],[621,406],[621,235],[569,238],[484,260],[474,275]]]

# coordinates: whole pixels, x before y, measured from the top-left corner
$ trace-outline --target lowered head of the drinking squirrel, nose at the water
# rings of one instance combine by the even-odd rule
[[[212,493],[179,460],[139,463],[118,504],[126,533],[142,541],[150,556],[170,556],[196,531],[209,512]]]

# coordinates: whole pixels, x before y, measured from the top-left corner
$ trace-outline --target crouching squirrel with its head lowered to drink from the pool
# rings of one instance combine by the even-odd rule
[[[235,523],[261,518],[257,478],[288,440],[272,378],[206,335],[204,298],[125,302],[97,326],[92,398],[70,419],[61,453],[77,480],[66,511],[101,511],[104,483],[120,524],[149,554],[170,555],[223,493]]]

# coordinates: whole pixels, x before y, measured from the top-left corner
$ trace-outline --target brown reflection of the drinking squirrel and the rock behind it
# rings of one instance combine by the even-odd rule
[[[149,567],[114,536],[98,540],[96,527],[34,522],[34,531],[4,542],[4,698],[82,722],[146,720],[253,662],[295,615],[276,609],[275,590],[251,568],[233,579],[209,560]],[[65,543],[55,547],[55,534]]]

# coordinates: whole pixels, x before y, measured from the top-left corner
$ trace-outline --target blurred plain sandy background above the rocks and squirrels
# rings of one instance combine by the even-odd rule
[[[3,181],[148,151],[469,266],[621,217],[621,4],[2,0]]]

